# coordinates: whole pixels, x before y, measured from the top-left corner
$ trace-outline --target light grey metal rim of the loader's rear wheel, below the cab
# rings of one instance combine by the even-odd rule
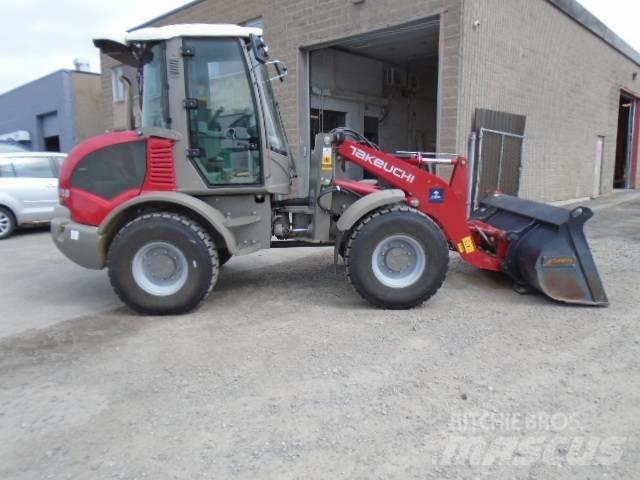
[[[140,248],[133,257],[131,270],[138,286],[156,297],[177,293],[189,277],[187,258],[166,242],[152,242]]]

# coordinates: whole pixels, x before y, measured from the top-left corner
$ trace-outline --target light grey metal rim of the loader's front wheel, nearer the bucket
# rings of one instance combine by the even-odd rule
[[[408,235],[393,235],[382,240],[371,259],[373,274],[390,288],[406,288],[418,281],[427,266],[422,245]]]

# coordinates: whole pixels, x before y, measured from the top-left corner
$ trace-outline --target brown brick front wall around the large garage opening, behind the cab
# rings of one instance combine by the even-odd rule
[[[456,145],[460,12],[462,0],[207,0],[155,22],[242,23],[256,17],[264,20],[265,38],[271,55],[289,68],[285,83],[276,85],[276,95],[294,152],[300,143],[298,113],[298,61],[301,46],[312,46],[344,37],[387,28],[443,12],[445,38],[443,58],[442,148]],[[103,104],[106,124],[113,125],[111,67],[103,57]]]

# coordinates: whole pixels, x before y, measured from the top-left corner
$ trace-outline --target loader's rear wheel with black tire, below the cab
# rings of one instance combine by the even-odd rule
[[[189,217],[162,212],[141,216],[116,235],[107,259],[120,299],[148,315],[194,310],[218,279],[211,236]]]

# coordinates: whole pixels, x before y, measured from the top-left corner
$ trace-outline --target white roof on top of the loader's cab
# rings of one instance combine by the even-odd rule
[[[231,24],[185,23],[164,27],[145,27],[120,35],[94,38],[96,46],[105,42],[121,45],[169,40],[176,37],[249,37],[262,35],[262,29]]]

